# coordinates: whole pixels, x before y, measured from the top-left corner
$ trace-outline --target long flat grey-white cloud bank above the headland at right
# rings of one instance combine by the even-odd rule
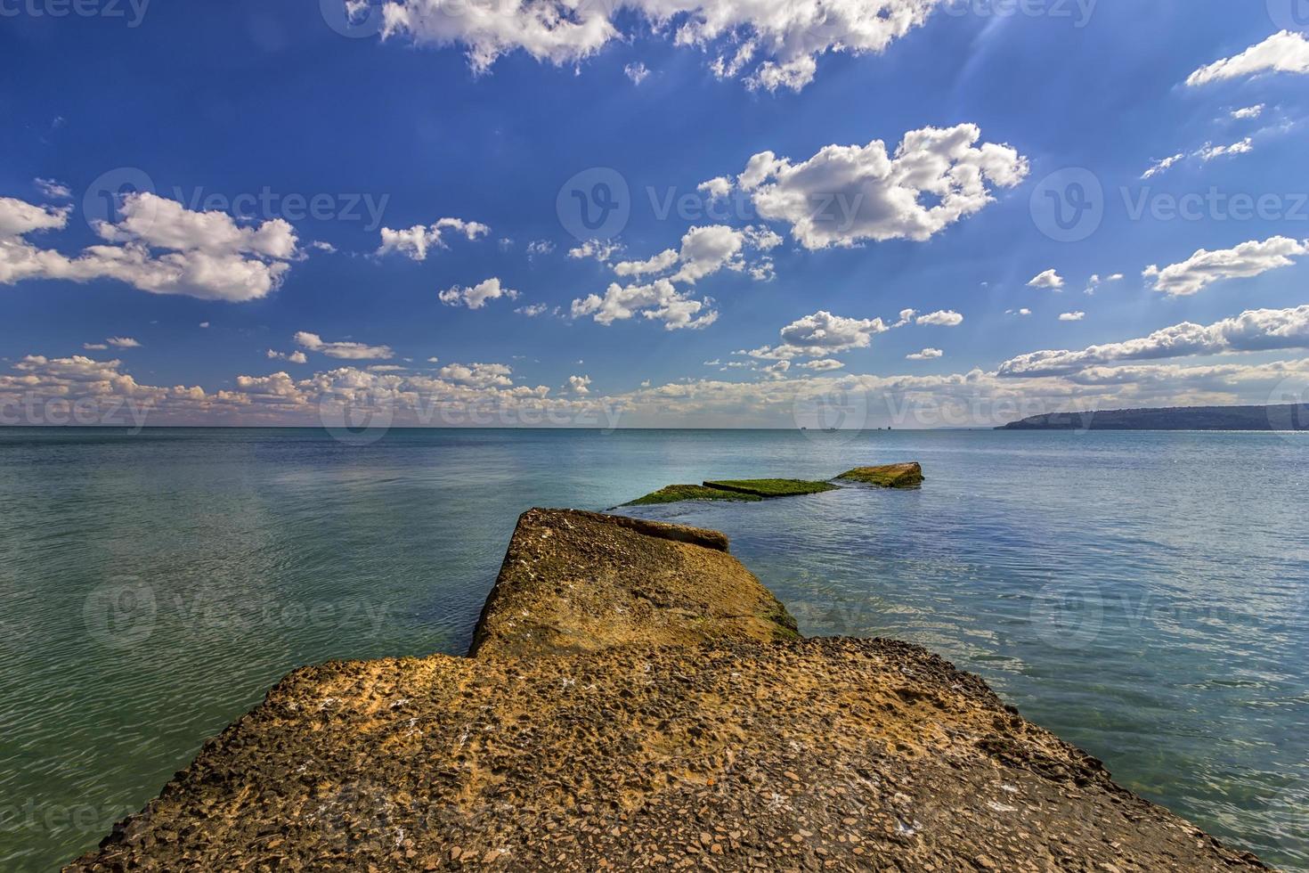
[[[1287,348],[1309,348],[1309,305],[1295,309],[1251,309],[1207,326],[1182,322],[1140,339],[1088,346],[1076,352],[1028,352],[1004,361],[997,372],[1000,376],[1062,376],[1124,360]]]

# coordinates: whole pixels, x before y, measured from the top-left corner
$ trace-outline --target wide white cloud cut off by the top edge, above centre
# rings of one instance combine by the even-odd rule
[[[708,52],[711,68],[723,79],[744,77],[747,86],[766,90],[800,90],[813,81],[819,56],[878,54],[922,25],[937,3],[508,0],[454,9],[442,0],[389,0],[382,7],[382,35],[462,46],[476,72],[486,72],[501,55],[520,50],[539,62],[576,64],[611,41],[630,38],[631,33],[619,30],[620,20],[628,20],[623,13],[630,13],[674,45]]]

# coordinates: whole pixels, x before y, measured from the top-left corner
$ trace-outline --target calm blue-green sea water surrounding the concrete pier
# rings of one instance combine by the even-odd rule
[[[295,666],[461,653],[529,507],[905,459],[922,491],[640,514],[1309,870],[1309,435],[31,429],[0,429],[0,869],[94,846]]]

